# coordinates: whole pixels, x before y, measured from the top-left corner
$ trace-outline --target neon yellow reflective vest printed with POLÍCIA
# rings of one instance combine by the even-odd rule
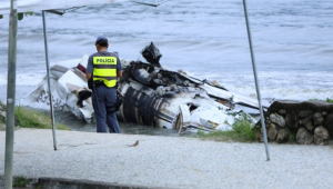
[[[93,57],[93,81],[103,81],[109,88],[117,83],[117,58]]]

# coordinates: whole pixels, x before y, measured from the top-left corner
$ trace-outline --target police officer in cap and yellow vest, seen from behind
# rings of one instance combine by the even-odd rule
[[[115,53],[108,52],[109,42],[105,37],[95,40],[98,52],[88,59],[87,79],[93,80],[92,106],[97,121],[97,132],[120,133],[117,115],[117,78],[122,77],[120,60]]]

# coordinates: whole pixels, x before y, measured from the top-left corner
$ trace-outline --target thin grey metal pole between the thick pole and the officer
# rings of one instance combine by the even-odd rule
[[[49,66],[49,49],[48,49],[48,36],[47,36],[47,21],[46,21],[46,11],[42,11],[43,16],[43,33],[44,33],[44,48],[46,48],[46,60],[47,60],[47,72],[48,72],[48,86],[49,86],[49,100],[50,100],[50,111],[52,120],[52,133],[53,133],[53,147],[57,150],[57,138],[56,138],[56,127],[54,127],[54,112],[53,112],[53,99],[51,90],[51,77],[50,77],[50,66]]]

